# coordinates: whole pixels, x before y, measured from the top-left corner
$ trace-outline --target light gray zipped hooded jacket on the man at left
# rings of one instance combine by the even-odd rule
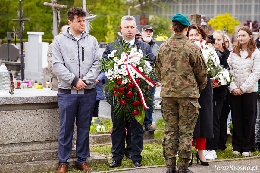
[[[95,80],[101,71],[99,45],[96,38],[85,31],[77,41],[69,34],[68,29],[55,37],[52,47],[52,66],[59,81],[58,91],[86,94],[95,90]],[[87,79],[87,87],[76,90],[72,86],[76,86],[80,78]]]

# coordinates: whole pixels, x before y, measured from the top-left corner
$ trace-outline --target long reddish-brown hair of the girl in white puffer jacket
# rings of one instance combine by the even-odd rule
[[[254,41],[254,37],[253,37],[253,32],[252,32],[252,30],[251,30],[248,26],[243,26],[243,27],[239,28],[239,29],[238,29],[238,32],[239,32],[240,30],[246,31],[249,36],[252,35],[252,38],[249,40],[248,45],[246,46],[246,48],[247,48],[247,53],[248,53],[248,55],[247,55],[246,58],[251,57],[252,54],[253,54],[253,52],[254,52],[255,49],[256,49],[256,45],[255,45],[255,41]],[[238,34],[238,32],[237,32],[237,34]],[[239,57],[241,57],[241,55],[240,55],[240,49],[241,49],[241,48],[242,48],[242,45],[241,45],[240,42],[238,41],[238,42],[237,42],[237,45],[236,45],[235,47],[233,47],[232,53],[235,53],[235,54],[237,54]]]

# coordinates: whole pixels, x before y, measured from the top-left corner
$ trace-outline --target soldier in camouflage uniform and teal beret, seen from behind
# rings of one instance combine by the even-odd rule
[[[208,67],[199,46],[186,37],[190,27],[187,18],[176,14],[172,24],[175,34],[160,46],[153,64],[161,80],[160,105],[165,122],[163,156],[167,173],[177,173],[175,155],[178,149],[178,172],[192,173],[188,169],[192,134],[200,108],[199,91],[207,84]]]

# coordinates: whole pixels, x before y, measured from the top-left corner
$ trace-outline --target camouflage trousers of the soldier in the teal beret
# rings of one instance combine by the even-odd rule
[[[167,166],[176,166],[175,155],[178,150],[178,167],[188,168],[192,135],[200,108],[198,99],[164,97],[160,105],[165,124],[162,142],[165,163]]]

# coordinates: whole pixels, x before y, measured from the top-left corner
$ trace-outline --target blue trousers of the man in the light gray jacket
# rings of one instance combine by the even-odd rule
[[[59,163],[69,165],[75,118],[77,119],[77,166],[86,162],[89,155],[89,129],[97,92],[88,94],[64,94],[58,92],[60,111]]]

